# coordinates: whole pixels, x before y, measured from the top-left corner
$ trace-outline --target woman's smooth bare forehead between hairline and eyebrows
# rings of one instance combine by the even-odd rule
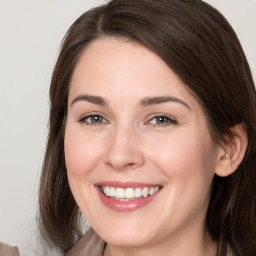
[[[139,44],[112,38],[96,40],[83,51],[72,76],[69,103],[79,94],[118,97],[122,102],[168,95],[190,105],[197,103],[158,55]]]

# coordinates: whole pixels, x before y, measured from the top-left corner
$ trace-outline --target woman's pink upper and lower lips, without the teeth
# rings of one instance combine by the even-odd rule
[[[115,200],[111,197],[106,196],[101,192],[101,186],[112,186],[112,187],[121,187],[121,188],[135,188],[135,187],[153,187],[158,186],[156,184],[145,184],[145,183],[138,183],[138,182],[116,182],[116,181],[104,181],[94,184],[99,198],[102,203],[111,210],[118,211],[118,212],[131,212],[137,210],[143,206],[149,204],[154,198],[158,195],[158,192],[148,196],[148,197],[141,197],[141,198],[134,198],[134,200],[130,201],[119,201]]]

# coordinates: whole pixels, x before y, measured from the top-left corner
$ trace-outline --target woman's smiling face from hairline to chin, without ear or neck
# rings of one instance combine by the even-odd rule
[[[65,160],[101,238],[117,246],[198,239],[217,159],[202,108],[156,54],[118,39],[86,48],[70,85]]]

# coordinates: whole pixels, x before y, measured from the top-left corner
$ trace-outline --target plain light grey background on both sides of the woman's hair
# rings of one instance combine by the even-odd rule
[[[229,20],[256,73],[256,0],[206,0]],[[0,0],[0,241],[36,229],[48,89],[67,28],[103,0]],[[255,80],[255,79],[254,79]]]

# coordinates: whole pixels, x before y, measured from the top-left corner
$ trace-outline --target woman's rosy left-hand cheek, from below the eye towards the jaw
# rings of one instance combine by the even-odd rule
[[[86,216],[88,208],[93,208],[96,201],[91,193],[90,173],[101,158],[102,150],[97,141],[95,136],[86,135],[67,124],[64,149],[68,182],[79,208]]]

